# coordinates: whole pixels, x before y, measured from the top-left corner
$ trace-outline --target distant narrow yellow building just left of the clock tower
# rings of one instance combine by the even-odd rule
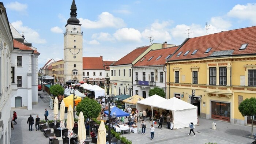
[[[52,64],[54,83],[64,83],[64,61],[59,60]]]

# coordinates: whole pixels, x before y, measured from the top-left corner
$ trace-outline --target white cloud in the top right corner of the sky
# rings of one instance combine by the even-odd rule
[[[241,20],[250,20],[253,24],[256,24],[256,3],[247,5],[235,5],[232,10],[227,13],[227,16],[238,18]]]

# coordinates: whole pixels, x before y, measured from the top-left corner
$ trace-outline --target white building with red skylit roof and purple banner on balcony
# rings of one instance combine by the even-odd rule
[[[132,85],[136,95],[147,98],[149,90],[154,87],[162,88],[166,94],[166,60],[177,48],[151,50],[133,65]]]

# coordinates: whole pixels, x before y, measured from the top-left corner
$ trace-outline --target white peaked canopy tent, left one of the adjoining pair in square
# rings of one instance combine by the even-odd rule
[[[161,97],[159,95],[152,95],[152,96],[149,96],[146,99],[138,101],[137,102],[137,109],[138,110],[143,110],[143,109],[146,110],[148,108],[148,106],[150,106],[151,107],[151,111],[152,111],[151,116],[153,117],[153,109],[154,109],[154,107],[158,107],[159,103],[161,104],[164,101],[167,101],[167,99],[165,99],[165,98],[163,98],[163,97]]]

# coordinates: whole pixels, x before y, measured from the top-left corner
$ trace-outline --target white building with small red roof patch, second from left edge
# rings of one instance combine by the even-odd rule
[[[11,53],[11,108],[32,110],[38,103],[38,56],[40,53],[11,27],[14,50]]]

